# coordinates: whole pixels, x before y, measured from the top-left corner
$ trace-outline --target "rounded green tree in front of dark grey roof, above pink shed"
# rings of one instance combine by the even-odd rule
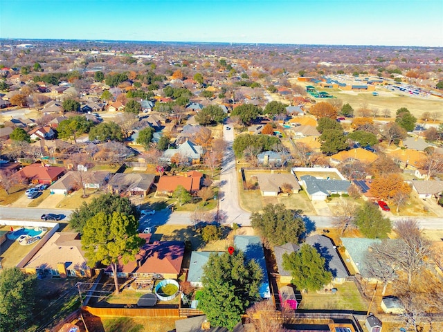
[[[325,259],[309,244],[303,244],[298,252],[284,253],[283,267],[291,271],[291,284],[298,289],[319,291],[332,281],[332,273],[325,269]]]

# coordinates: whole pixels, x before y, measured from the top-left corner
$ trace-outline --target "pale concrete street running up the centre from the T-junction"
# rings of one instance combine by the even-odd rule
[[[227,130],[230,125],[224,125],[223,138],[228,143],[226,154],[221,161],[220,174],[220,201],[219,201],[219,216],[221,216],[220,223],[230,225],[238,223],[239,225],[251,225],[249,216],[251,212],[246,212],[239,205],[239,187],[237,177],[236,160],[233,151],[234,130]]]

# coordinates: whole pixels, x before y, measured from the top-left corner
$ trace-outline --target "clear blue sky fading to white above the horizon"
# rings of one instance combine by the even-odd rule
[[[443,46],[442,18],[442,0],[0,0],[0,37]]]

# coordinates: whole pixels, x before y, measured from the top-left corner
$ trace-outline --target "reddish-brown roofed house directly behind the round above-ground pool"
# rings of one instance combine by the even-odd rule
[[[154,279],[177,279],[185,253],[185,243],[181,241],[157,241],[146,243],[140,248],[133,261],[118,264],[118,277],[153,277]],[[109,266],[105,273],[112,275]]]

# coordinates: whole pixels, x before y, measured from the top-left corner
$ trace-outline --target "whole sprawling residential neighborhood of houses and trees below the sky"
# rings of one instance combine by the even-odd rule
[[[5,331],[443,331],[441,48],[21,44]]]

